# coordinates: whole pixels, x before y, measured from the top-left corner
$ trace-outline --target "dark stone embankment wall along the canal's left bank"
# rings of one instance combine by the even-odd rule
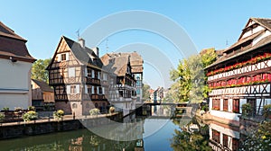
[[[88,123],[88,126],[98,127],[101,125],[109,124],[112,122],[112,120],[122,120],[122,112],[98,116],[84,116],[80,118],[65,116],[61,120],[47,119],[26,122],[21,121],[13,123],[1,123],[0,139],[19,138],[53,132],[84,129],[85,125],[82,123],[85,122]]]

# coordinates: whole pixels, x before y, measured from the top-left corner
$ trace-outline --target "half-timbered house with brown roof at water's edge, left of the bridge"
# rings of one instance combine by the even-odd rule
[[[104,55],[101,60],[108,73],[110,84],[108,88],[108,101],[127,115],[135,110],[136,87],[135,76],[132,74],[130,56],[121,54]]]

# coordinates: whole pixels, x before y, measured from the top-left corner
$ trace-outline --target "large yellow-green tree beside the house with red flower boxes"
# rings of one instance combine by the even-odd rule
[[[215,49],[204,49],[198,55],[180,60],[176,69],[170,72],[173,84],[164,102],[201,102],[207,98],[210,89],[203,68],[217,59]]]

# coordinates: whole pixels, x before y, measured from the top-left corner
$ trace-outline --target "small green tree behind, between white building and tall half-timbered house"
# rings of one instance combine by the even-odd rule
[[[38,59],[34,62],[31,70],[31,78],[49,83],[49,75],[46,67],[48,67],[50,62],[51,58]]]

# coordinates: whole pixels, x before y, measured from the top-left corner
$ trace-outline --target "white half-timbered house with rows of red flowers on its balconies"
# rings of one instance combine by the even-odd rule
[[[238,41],[205,70],[211,115],[238,123],[244,103],[261,115],[271,103],[271,19],[250,18]]]

